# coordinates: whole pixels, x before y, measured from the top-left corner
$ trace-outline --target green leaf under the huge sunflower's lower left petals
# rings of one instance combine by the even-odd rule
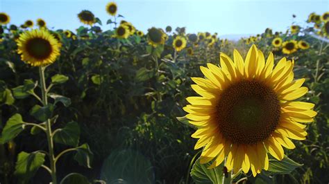
[[[212,162],[201,164],[199,162],[200,158],[194,163],[191,176],[195,183],[222,183],[223,179],[223,164],[214,167],[213,169],[208,169]]]

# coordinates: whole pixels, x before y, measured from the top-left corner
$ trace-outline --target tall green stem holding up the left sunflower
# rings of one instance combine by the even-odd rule
[[[41,92],[42,92],[42,102],[44,106],[47,106],[47,86],[46,80],[44,79],[44,70],[46,67],[40,66],[39,67],[39,74],[40,74],[40,84],[41,84]],[[51,170],[51,181],[52,184],[57,184],[56,180],[56,165],[55,165],[55,156],[53,154],[53,138],[51,136],[51,122],[50,119],[46,121],[46,133],[47,133],[47,141],[48,141],[48,149],[49,149],[49,163],[50,163],[50,170]]]

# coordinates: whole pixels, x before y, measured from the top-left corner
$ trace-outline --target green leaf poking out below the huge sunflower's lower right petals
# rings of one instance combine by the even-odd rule
[[[301,166],[303,165],[285,156],[282,160],[269,159],[269,169],[264,172],[265,174],[288,174]]]

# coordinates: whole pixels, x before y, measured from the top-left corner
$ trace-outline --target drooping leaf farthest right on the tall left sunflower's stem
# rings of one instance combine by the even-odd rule
[[[87,143],[76,148],[76,155],[74,160],[78,161],[79,165],[83,165],[88,168],[92,168],[90,163],[92,163],[93,154],[90,151],[89,145]]]

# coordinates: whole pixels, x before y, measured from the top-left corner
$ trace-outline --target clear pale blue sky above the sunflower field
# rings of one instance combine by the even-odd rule
[[[55,29],[74,30],[82,24],[77,14],[91,10],[103,21],[103,30],[110,28],[110,15],[103,0],[0,0],[0,12],[11,17],[11,24],[23,24],[26,19],[41,17]],[[295,21],[305,25],[310,12],[329,11],[329,1],[319,0],[119,0],[118,13],[124,15],[137,29],[170,25],[187,28],[187,33],[208,31],[219,35],[257,34],[265,28],[284,31]],[[104,26],[105,25],[105,26]]]

